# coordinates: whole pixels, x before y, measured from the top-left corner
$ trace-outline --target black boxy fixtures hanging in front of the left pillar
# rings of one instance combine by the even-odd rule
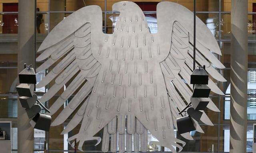
[[[49,131],[51,124],[51,116],[41,114],[42,108],[50,113],[50,111],[38,100],[34,94],[36,85],[36,73],[32,65],[24,64],[24,70],[19,73],[20,85],[16,86],[20,104],[25,108],[28,118],[32,118],[30,124],[35,129]]]

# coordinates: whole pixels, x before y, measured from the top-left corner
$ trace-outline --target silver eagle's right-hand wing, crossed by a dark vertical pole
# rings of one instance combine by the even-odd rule
[[[176,118],[181,117],[178,115],[178,110],[182,110],[190,103],[192,96],[193,85],[190,84],[190,75],[193,70],[193,15],[193,12],[176,3],[160,2],[157,5],[158,33],[156,33],[156,37],[165,40],[162,43],[162,48],[168,49],[165,51],[167,57],[160,60],[160,66],[176,129]],[[206,71],[210,75],[207,86],[212,92],[224,95],[213,80],[226,81],[215,69],[215,67],[219,69],[225,67],[214,54],[221,55],[218,43],[207,26],[196,17],[196,66],[206,66]],[[212,100],[210,98],[207,100],[210,101],[207,108],[219,112]],[[213,126],[205,112],[202,112],[200,120],[206,125]],[[197,122],[196,124],[196,130],[203,132],[199,124]],[[187,139],[192,138],[188,133],[184,133],[182,136]]]

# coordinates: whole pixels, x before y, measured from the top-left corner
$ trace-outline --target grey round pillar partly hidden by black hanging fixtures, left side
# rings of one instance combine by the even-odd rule
[[[18,14],[18,73],[23,64],[35,66],[35,0],[20,0]],[[18,153],[34,153],[34,129],[18,102]]]

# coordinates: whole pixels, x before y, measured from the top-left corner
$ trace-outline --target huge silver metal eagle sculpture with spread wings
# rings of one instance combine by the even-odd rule
[[[36,61],[46,61],[36,70],[55,65],[37,84],[40,88],[55,80],[40,101],[49,100],[72,81],[52,104],[50,114],[78,91],[51,126],[62,124],[77,109],[62,134],[82,121],[79,133],[68,138],[69,142],[79,141],[78,149],[87,140],[99,143],[101,138],[94,135],[104,128],[104,152],[116,152],[117,144],[121,153],[146,152],[148,131],[159,145],[173,153],[175,148],[181,151],[185,142],[176,139],[174,128],[176,118],[181,117],[179,110],[192,95],[192,84],[186,82],[190,82],[193,69],[193,13],[176,3],[158,3],[158,32],[153,34],[134,2],[117,2],[112,10],[120,12],[113,34],[102,32],[101,8],[86,6],[62,20],[40,45],[38,52],[43,52]],[[213,54],[221,55],[220,48],[199,18],[196,27],[196,65],[206,65],[211,76],[208,87],[223,95],[212,81],[226,81],[215,69],[224,68]],[[218,112],[208,100],[207,107]],[[205,113],[201,121],[213,126]],[[197,122],[196,131],[204,132]],[[190,133],[182,136],[192,139]]]

